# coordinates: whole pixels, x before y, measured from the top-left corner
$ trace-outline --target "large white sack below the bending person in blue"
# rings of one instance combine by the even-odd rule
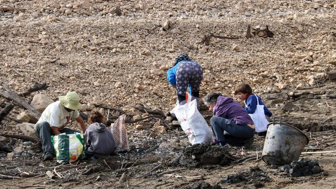
[[[212,140],[211,129],[197,110],[197,101],[185,105],[177,105],[170,113],[174,113],[192,145],[207,143]]]

